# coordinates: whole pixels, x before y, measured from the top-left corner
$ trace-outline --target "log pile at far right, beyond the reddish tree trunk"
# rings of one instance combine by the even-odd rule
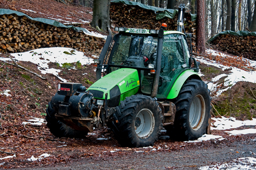
[[[236,35],[220,35],[210,42],[214,48],[234,55],[241,55],[256,60],[256,37],[239,37]]]

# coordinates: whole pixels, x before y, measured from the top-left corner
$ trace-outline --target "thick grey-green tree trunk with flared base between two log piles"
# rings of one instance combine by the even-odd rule
[[[99,31],[108,31],[111,34],[110,18],[109,18],[110,0],[94,0],[93,1],[93,19],[91,27]]]

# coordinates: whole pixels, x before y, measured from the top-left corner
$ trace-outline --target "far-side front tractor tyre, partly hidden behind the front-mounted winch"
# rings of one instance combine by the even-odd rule
[[[83,138],[85,135],[87,135],[87,132],[74,130],[64,124],[61,121],[58,121],[54,115],[57,112],[53,108],[52,101],[48,103],[48,108],[46,109],[46,121],[47,126],[50,130],[50,132],[56,136],[56,137],[69,137],[69,138]]]

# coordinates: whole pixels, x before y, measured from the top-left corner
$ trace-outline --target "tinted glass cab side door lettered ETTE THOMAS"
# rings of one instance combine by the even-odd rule
[[[189,66],[189,48],[182,34],[163,37],[160,80],[157,98],[166,98],[174,81]]]

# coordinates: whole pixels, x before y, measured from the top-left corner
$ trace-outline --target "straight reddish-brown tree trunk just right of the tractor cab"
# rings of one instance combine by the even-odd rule
[[[205,54],[205,2],[197,1],[197,51]]]

